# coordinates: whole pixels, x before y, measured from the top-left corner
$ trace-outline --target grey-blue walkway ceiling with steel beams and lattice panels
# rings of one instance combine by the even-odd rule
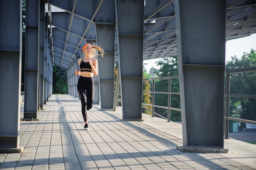
[[[144,60],[177,55],[174,5],[174,0],[145,1]],[[83,44],[96,42],[95,24],[115,24],[114,0],[47,0],[45,9],[54,65],[64,70],[81,56]],[[256,0],[228,0],[227,40],[254,33]],[[117,61],[117,42],[115,47]]]

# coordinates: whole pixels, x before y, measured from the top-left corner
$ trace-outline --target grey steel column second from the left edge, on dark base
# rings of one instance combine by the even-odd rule
[[[24,118],[37,118],[39,0],[26,1],[26,59]]]

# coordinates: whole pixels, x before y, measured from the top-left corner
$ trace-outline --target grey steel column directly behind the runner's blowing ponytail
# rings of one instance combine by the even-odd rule
[[[104,17],[99,15],[104,13]],[[95,16],[97,44],[104,51],[99,57],[101,109],[113,109],[115,78],[115,1],[104,0]],[[100,24],[104,23],[104,24]]]

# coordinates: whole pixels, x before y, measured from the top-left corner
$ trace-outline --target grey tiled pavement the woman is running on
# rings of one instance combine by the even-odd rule
[[[143,122],[120,121],[121,109],[89,111],[83,130],[81,102],[52,95],[39,120],[20,122],[23,153],[0,153],[3,170],[256,169],[256,146],[225,139],[229,153],[182,153],[181,124],[143,114]],[[21,114],[21,118],[23,115]]]

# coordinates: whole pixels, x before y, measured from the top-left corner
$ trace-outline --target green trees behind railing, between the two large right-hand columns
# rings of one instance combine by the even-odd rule
[[[177,56],[165,57],[157,61],[160,66],[155,73],[158,77],[176,76],[178,75],[178,59]],[[155,83],[156,92],[168,92],[168,79],[159,80]],[[171,92],[180,92],[179,80],[173,79],[171,82]],[[168,94],[155,94],[155,105],[168,106]],[[180,108],[180,95],[171,95],[171,107]],[[155,112],[167,118],[168,111],[166,109],[155,108]],[[171,111],[172,121],[181,121],[179,111]]]

